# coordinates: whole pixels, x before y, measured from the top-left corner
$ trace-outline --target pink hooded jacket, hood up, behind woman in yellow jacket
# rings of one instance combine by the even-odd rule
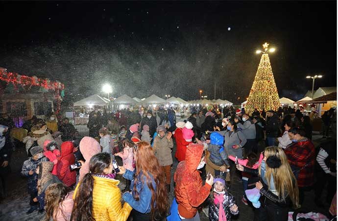
[[[80,141],[80,151],[86,162],[80,168],[79,182],[89,172],[89,161],[95,155],[101,152],[100,144],[96,139],[91,137],[84,137]]]

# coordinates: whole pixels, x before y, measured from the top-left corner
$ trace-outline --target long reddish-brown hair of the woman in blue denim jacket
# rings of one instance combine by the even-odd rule
[[[151,220],[156,217],[155,214],[166,216],[169,209],[168,193],[165,187],[165,177],[158,168],[160,164],[155,157],[154,152],[148,142],[141,141],[137,145],[134,154],[137,155],[136,173],[134,176],[134,198],[139,200],[139,192],[136,189],[136,184],[141,180],[143,185],[147,185],[151,191]],[[153,181],[155,187],[153,187]],[[155,190],[156,188],[156,190]]]

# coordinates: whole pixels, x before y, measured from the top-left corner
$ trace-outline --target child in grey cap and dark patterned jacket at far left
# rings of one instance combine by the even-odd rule
[[[38,203],[33,201],[33,199],[38,195],[38,174],[35,172],[36,168],[39,164],[41,164],[41,162],[48,161],[48,159],[43,154],[43,149],[39,146],[30,148],[30,154],[32,157],[24,161],[21,169],[21,175],[28,178],[27,186],[28,194],[30,195],[30,209],[27,211],[27,214],[31,214],[38,209]]]

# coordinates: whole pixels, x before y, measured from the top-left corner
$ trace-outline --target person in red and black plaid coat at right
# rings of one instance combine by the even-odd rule
[[[314,144],[305,137],[305,131],[297,127],[289,130],[292,143],[285,148],[285,154],[293,173],[297,178],[299,188],[299,203],[304,200],[304,192],[309,191],[314,184]]]

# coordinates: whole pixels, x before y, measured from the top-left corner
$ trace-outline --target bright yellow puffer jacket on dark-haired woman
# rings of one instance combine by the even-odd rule
[[[122,207],[119,183],[119,180],[94,176],[92,213],[96,221],[126,221],[128,219],[132,208],[126,202]],[[73,197],[76,195],[79,184],[75,188]]]

